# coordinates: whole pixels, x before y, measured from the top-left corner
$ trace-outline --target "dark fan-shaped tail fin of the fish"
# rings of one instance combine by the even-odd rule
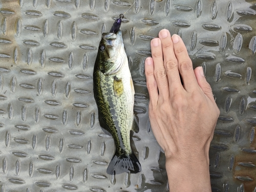
[[[115,153],[106,169],[106,173],[110,175],[112,173],[121,174],[124,172],[136,174],[140,171],[141,165],[134,153],[125,156],[118,156],[117,153]]]

